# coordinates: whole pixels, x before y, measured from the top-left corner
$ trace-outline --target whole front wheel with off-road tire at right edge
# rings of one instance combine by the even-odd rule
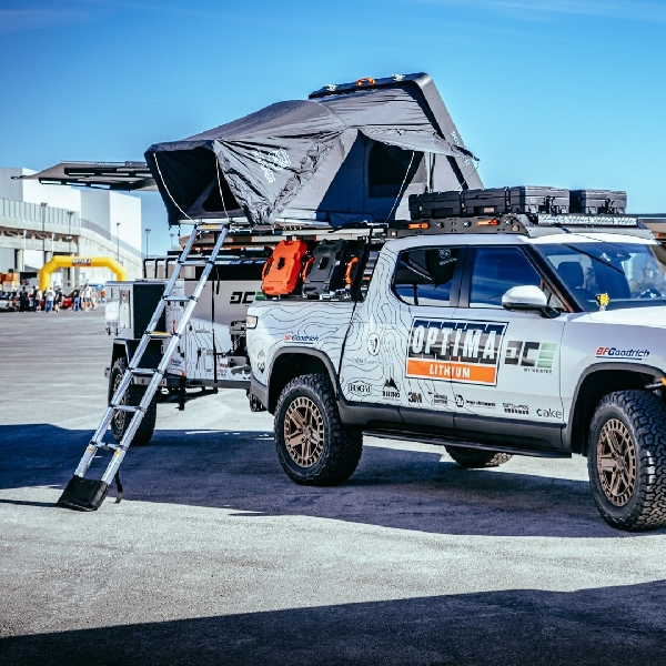
[[[606,395],[589,425],[587,471],[592,495],[606,523],[632,531],[666,525],[666,408],[662,400],[646,391]]]

